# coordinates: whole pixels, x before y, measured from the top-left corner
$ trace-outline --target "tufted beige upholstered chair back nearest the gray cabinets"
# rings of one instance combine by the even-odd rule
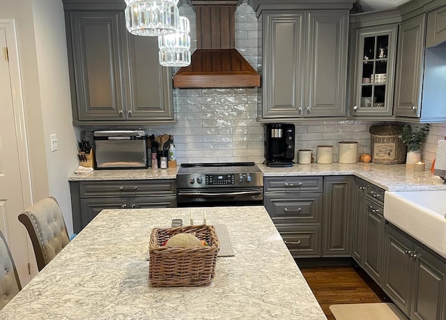
[[[19,220],[28,231],[41,271],[70,242],[61,208],[54,197],[46,197],[20,213]]]

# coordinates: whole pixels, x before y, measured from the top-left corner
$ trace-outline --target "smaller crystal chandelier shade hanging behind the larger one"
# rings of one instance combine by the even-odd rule
[[[187,17],[180,16],[176,33],[158,37],[161,66],[186,67],[190,65],[190,23]]]

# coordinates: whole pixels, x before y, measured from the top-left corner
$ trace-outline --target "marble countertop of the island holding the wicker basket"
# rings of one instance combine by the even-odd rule
[[[202,208],[192,208],[195,221]],[[13,300],[0,319],[326,319],[263,206],[206,208],[234,257],[207,287],[148,284],[148,239],[190,208],[104,210]]]

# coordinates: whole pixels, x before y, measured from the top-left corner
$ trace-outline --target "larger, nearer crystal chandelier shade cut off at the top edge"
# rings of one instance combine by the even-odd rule
[[[178,0],[125,0],[125,26],[135,36],[161,36],[178,29]]]

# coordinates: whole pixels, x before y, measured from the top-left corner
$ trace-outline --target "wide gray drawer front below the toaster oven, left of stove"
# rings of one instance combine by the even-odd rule
[[[174,180],[88,181],[80,183],[84,197],[136,197],[144,195],[176,195]]]

